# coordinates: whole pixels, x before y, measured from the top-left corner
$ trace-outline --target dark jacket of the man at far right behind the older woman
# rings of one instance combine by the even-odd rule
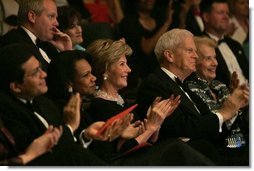
[[[205,34],[205,35],[208,36],[207,34]],[[243,71],[243,75],[246,77],[246,79],[249,79],[249,63],[248,63],[248,60],[245,56],[245,53],[244,53],[244,50],[243,50],[241,44],[238,43],[237,41],[231,39],[230,37],[225,37],[225,42],[227,43],[229,48],[234,53],[234,55],[237,59],[237,62],[239,63],[239,65]],[[226,62],[225,62],[221,52],[219,51],[218,48],[216,48],[215,50],[216,50],[216,56],[217,56],[217,61],[218,61],[218,67],[216,70],[216,78],[215,79],[219,80],[219,81],[223,82],[224,84],[226,84],[227,86],[229,86],[231,74],[228,70],[228,67],[226,65]]]

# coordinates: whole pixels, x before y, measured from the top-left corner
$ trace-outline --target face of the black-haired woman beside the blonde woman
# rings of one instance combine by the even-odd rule
[[[73,81],[74,92],[79,92],[81,95],[92,95],[96,89],[96,77],[91,73],[92,68],[90,64],[81,59],[76,62],[76,75]]]

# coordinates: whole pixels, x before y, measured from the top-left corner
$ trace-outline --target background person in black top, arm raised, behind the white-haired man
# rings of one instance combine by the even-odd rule
[[[172,1],[167,5],[165,20],[159,21],[152,15],[155,0],[138,0],[132,13],[126,14],[119,24],[119,35],[124,37],[126,42],[133,49],[133,54],[128,60],[132,70],[128,77],[127,89],[134,90],[139,86],[142,78],[151,72],[158,62],[153,53],[155,44],[159,37],[165,33],[172,23]]]

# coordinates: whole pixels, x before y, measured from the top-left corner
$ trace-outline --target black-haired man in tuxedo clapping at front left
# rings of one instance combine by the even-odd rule
[[[13,135],[17,151],[25,151],[49,125],[62,125],[63,134],[58,144],[31,165],[107,165],[78,145],[73,136],[80,121],[79,95],[71,98],[63,118],[53,102],[42,96],[47,91],[47,74],[33,50],[26,44],[12,44],[1,49],[0,117]]]

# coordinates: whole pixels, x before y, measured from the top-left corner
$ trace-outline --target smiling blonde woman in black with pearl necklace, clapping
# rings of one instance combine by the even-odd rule
[[[100,88],[91,101],[89,114],[94,120],[107,120],[129,106],[118,91],[127,86],[127,77],[131,70],[127,65],[126,56],[131,55],[132,50],[123,39],[118,41],[100,39],[88,46],[87,51],[93,56],[93,69]],[[93,144],[92,147],[96,154],[107,161],[121,163],[122,165],[137,165],[140,162],[143,163],[142,165],[175,165],[178,162],[186,165],[185,162],[188,159],[183,157],[179,160],[179,156],[172,147],[172,145],[181,142],[179,140],[171,139],[162,144],[130,153],[132,147],[135,149],[147,144],[147,142],[152,144],[156,142],[161,123],[166,117],[170,117],[179,104],[179,97],[160,102],[159,100],[157,98],[154,101],[147,112],[147,118],[143,122],[139,120],[133,122],[120,138],[110,144],[103,142]],[[184,149],[185,147],[181,153],[184,153]],[[189,157],[195,153],[189,153]],[[199,160],[197,161],[199,162]],[[193,165],[196,164],[193,163]]]

